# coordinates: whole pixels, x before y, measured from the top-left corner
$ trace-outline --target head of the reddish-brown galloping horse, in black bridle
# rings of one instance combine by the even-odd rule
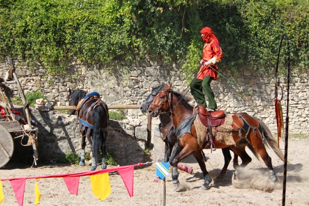
[[[165,85],[155,96],[152,103],[147,110],[150,117],[157,117],[160,112],[168,111],[170,106],[168,104],[168,92],[171,90],[171,85]]]

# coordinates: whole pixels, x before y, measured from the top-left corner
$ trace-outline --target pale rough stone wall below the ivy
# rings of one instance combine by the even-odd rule
[[[124,65],[117,61],[108,65],[100,62],[88,64],[73,60],[65,75],[48,74],[42,62],[29,67],[24,61],[14,59],[14,64],[24,92],[39,89],[55,105],[68,105],[66,96],[69,88],[83,89],[87,92],[97,91],[108,105],[140,105],[150,94],[151,88],[162,82],[172,84],[174,91],[179,90],[191,95],[187,85],[184,85],[186,81],[180,72],[179,64],[165,64],[152,57],[142,59],[136,65]],[[8,61],[4,57],[0,58],[0,73],[5,75],[8,69]],[[231,78],[228,70],[220,72],[225,77]],[[291,134],[309,133],[308,77],[308,74],[300,77],[293,72],[291,75],[289,105],[289,133]],[[281,103],[285,120],[286,82],[284,81],[285,79],[281,80],[284,90]],[[273,103],[274,75],[259,75],[251,69],[244,68],[239,69],[233,82],[236,88],[220,75],[218,81],[212,82],[219,109],[232,113],[247,112],[249,115],[262,119],[276,135],[277,126]],[[17,88],[15,88],[15,93],[18,93]],[[194,101],[191,103],[195,105]],[[133,128],[146,126],[147,117],[139,109],[128,109],[125,113],[128,117],[128,124],[123,121],[124,125],[134,122]],[[155,128],[159,120],[154,118],[152,122],[152,128]],[[71,137],[71,134],[65,135]],[[135,139],[138,138],[135,137]]]

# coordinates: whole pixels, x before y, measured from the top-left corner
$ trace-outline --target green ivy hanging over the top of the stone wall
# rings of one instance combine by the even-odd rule
[[[294,69],[308,71],[308,14],[307,0],[0,0],[0,53],[43,61],[51,73],[72,57],[129,64],[153,55],[181,62],[189,76],[201,59],[199,31],[209,26],[223,49],[221,68],[273,72],[286,32]]]

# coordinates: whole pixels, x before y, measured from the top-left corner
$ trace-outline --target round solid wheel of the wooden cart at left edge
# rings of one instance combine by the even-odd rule
[[[10,132],[2,125],[0,125],[0,134],[0,167],[3,167],[12,157],[14,142]]]

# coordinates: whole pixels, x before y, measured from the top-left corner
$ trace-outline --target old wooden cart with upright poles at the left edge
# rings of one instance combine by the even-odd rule
[[[2,99],[2,101],[5,103],[5,108],[8,113],[6,116],[6,121],[0,121],[0,167],[6,165],[6,163],[9,162],[9,160],[11,159],[14,151],[13,139],[15,138],[28,138],[27,145],[23,146],[32,146],[33,164],[37,165],[36,161],[39,158],[37,151],[38,129],[34,125],[32,125],[32,120],[28,109],[28,102],[23,93],[23,89],[20,86],[17,75],[15,74],[15,68],[12,58],[10,58],[10,65],[10,72],[15,81],[0,82],[0,99]],[[14,110],[13,103],[11,102],[11,99],[5,95],[5,92],[2,91],[4,85],[6,86],[8,84],[17,85],[21,99],[24,104],[25,121],[28,124],[21,124],[19,121],[16,120],[16,115],[12,112],[12,110]],[[8,99],[8,101],[6,99]]]

